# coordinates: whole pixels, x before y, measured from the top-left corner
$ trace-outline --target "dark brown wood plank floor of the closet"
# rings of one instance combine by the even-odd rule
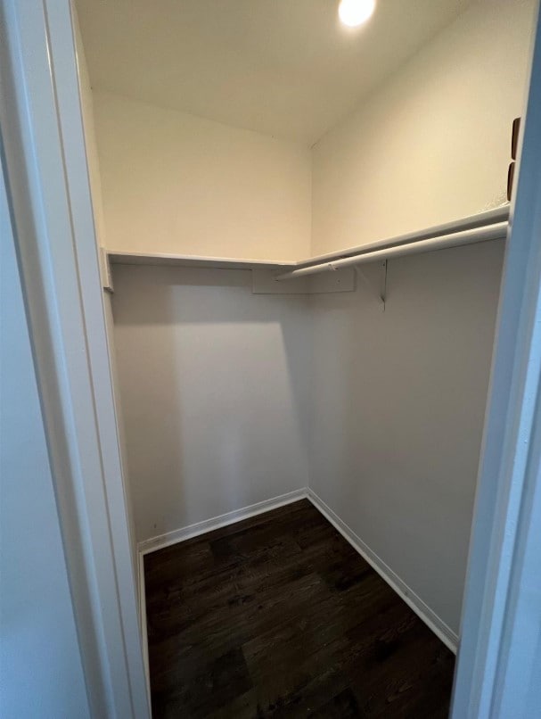
[[[154,719],[447,716],[453,655],[307,500],[144,569]]]

